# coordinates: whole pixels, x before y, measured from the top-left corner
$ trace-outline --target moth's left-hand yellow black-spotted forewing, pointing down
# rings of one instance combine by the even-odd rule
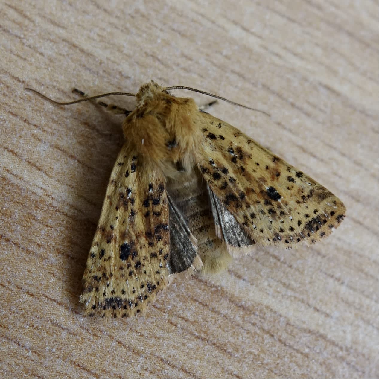
[[[162,177],[125,145],[106,190],[83,276],[89,315],[129,316],[167,285],[169,211]]]

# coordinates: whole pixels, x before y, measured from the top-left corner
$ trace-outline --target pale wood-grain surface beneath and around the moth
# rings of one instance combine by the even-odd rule
[[[0,5],[2,377],[378,377],[378,3],[13,3]],[[121,116],[24,87],[68,100],[74,86],[150,79],[271,113],[211,110],[337,194],[347,217],[315,246],[175,280],[145,318],[86,318],[81,276]]]

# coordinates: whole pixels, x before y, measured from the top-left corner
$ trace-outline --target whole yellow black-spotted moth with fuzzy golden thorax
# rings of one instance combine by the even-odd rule
[[[83,275],[90,316],[144,313],[175,274],[220,271],[258,246],[314,243],[344,218],[338,197],[169,92],[178,88],[191,89],[151,81],[136,94],[111,93],[135,96],[133,111],[100,103],[125,114],[125,143]]]

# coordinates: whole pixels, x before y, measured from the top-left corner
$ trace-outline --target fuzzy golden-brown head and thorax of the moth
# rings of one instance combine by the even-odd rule
[[[124,120],[125,148],[167,177],[177,164],[190,170],[199,148],[199,108],[191,98],[178,98],[154,82],[139,89],[137,106]]]

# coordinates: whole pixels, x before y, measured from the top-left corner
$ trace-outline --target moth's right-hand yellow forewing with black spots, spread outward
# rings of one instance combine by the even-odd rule
[[[256,244],[313,243],[340,224],[345,206],[325,187],[232,125],[200,120],[199,169]]]

